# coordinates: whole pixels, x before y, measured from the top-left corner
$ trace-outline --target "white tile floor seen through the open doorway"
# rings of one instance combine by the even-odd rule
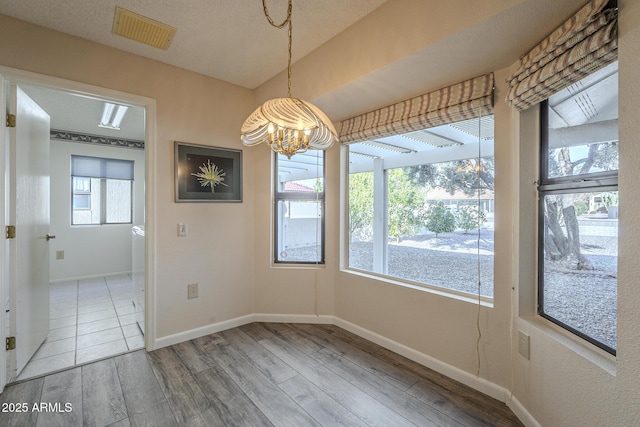
[[[129,275],[51,284],[49,336],[18,380],[144,347]]]

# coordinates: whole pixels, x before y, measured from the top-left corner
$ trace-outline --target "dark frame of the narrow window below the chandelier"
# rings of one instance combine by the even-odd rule
[[[280,191],[278,188],[278,153],[273,153],[273,263],[275,265],[325,265],[325,211],[326,211],[326,168],[327,155],[325,150],[318,151],[322,155],[322,191]],[[320,178],[320,177],[318,177]],[[318,202],[320,205],[320,259],[316,261],[280,261],[278,259],[278,202],[286,201],[309,201]]]

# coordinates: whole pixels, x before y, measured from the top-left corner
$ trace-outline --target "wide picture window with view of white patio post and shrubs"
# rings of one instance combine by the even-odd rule
[[[493,297],[493,116],[348,146],[348,267]],[[478,275],[480,273],[480,276]]]

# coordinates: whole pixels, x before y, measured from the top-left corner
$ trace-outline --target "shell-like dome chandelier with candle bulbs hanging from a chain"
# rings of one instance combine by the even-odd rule
[[[242,143],[249,146],[265,143],[287,158],[308,149],[325,150],[338,141],[331,120],[310,102],[291,97],[291,0],[287,18],[281,24],[274,23],[269,16],[266,0],[262,0],[262,7],[272,26],[281,29],[289,24],[287,97],[266,101],[245,120],[240,130]]]

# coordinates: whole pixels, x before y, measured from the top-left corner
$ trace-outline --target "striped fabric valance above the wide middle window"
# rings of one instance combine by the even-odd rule
[[[349,144],[489,114],[493,114],[493,73],[344,120],[339,139]]]

